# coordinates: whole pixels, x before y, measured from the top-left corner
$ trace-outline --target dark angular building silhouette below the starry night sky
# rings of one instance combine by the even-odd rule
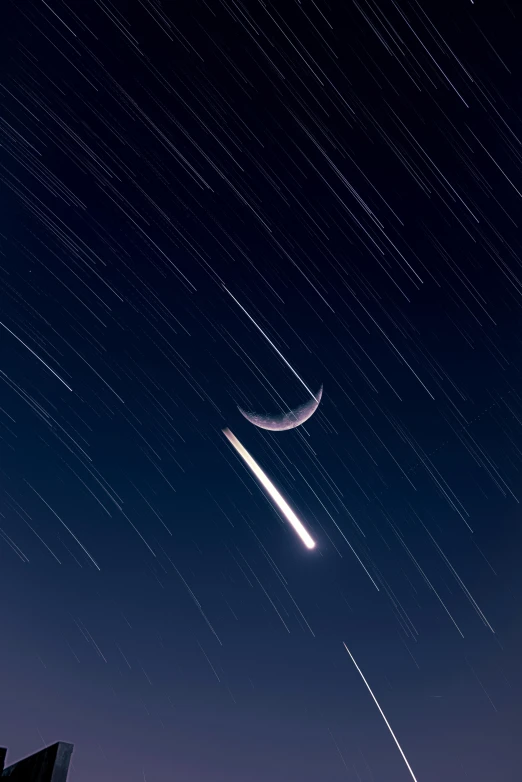
[[[67,782],[74,745],[58,741],[28,758],[4,766],[7,750],[0,747],[0,780],[10,782]]]

